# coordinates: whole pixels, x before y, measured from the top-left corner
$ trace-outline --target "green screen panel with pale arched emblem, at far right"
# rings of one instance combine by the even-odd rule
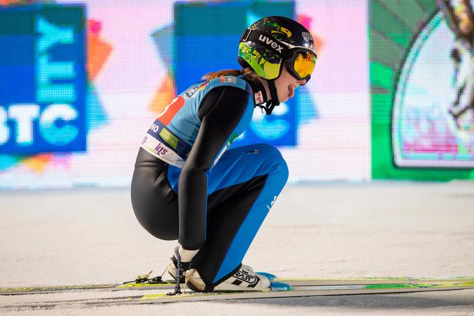
[[[371,1],[375,179],[474,178],[472,3]]]

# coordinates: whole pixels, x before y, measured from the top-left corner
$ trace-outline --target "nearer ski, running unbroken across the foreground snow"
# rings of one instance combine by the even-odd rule
[[[188,292],[185,294],[169,295],[144,294],[135,296],[116,296],[96,299],[74,299],[66,301],[45,301],[31,303],[14,303],[0,306],[10,308],[54,308],[56,306],[111,306],[123,304],[152,304],[183,301],[215,301],[231,299],[270,299],[301,296],[337,296],[362,294],[388,294],[406,292],[446,291],[454,289],[474,289],[474,280],[457,280],[433,283],[385,283],[369,285],[287,285],[272,283],[268,292]]]

